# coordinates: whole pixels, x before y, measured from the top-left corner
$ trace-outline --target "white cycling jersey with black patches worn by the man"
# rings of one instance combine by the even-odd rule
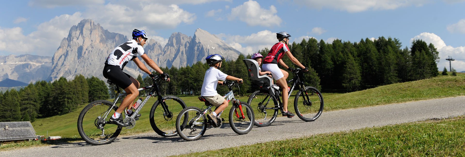
[[[131,39],[116,47],[106,58],[105,64],[120,66],[120,68],[123,69],[127,62],[137,58],[137,54],[142,56],[144,53],[144,48],[142,48],[136,40]]]

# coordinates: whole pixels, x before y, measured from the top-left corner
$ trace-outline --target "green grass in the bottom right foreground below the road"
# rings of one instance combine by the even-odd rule
[[[186,157],[464,157],[465,117],[271,141]]]

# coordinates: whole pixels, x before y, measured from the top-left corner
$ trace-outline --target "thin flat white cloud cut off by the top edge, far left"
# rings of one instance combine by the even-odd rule
[[[31,0],[29,6],[54,8],[57,6],[90,6],[103,3],[105,3],[105,0]]]

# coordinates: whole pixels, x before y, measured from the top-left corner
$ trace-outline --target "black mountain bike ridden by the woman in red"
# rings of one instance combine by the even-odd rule
[[[256,69],[253,67],[253,62],[254,61],[250,59],[244,60],[244,63],[246,63],[246,66],[249,69],[249,75],[251,75],[252,69]],[[258,67],[258,64],[255,66]],[[299,88],[299,91],[295,94],[294,99],[294,109],[296,115],[304,121],[314,121],[318,119],[318,117],[323,112],[323,96],[318,89],[305,86],[303,81],[304,71],[302,69],[293,69],[292,73],[294,74],[294,78],[289,80],[287,83],[293,83],[290,87],[290,91],[288,92],[289,95],[287,96],[288,98],[291,96],[295,87]],[[254,74],[252,73],[251,77],[253,77],[253,75]],[[260,78],[255,77],[255,79],[263,78],[263,76],[259,77]],[[263,81],[261,83],[263,84]],[[276,117],[279,114],[278,111],[283,111],[283,104],[280,100],[281,92],[279,89],[274,88],[273,85],[260,88],[260,90],[255,91],[250,95],[247,103],[254,109],[254,124],[256,126],[269,126],[274,122],[274,120],[276,120]],[[290,108],[289,105],[288,108]]]

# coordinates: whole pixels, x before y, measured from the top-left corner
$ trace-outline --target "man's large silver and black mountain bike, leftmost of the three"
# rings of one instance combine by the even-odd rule
[[[163,79],[167,79],[166,77]],[[153,95],[157,95],[157,101],[153,103],[152,109],[150,110],[150,125],[153,128],[153,131],[157,132],[159,135],[164,137],[176,136],[177,132],[175,129],[175,119],[174,116],[178,115],[179,112],[186,108],[186,104],[183,100],[179,99],[173,95],[161,96],[159,89],[159,84],[156,81],[162,80],[159,76],[152,78],[153,85],[139,88],[139,91],[150,90],[150,93],[147,95],[145,100],[135,108],[132,116],[125,114],[124,123],[127,124],[126,129],[131,129],[135,126],[135,118],[137,113],[140,112],[140,109],[144,107],[147,100]],[[113,84],[111,80],[108,80],[107,83],[110,85]],[[78,118],[78,132],[80,136],[89,144],[101,145],[108,144],[112,142],[120,132],[122,127],[109,123],[109,119],[112,116],[118,106],[116,105],[118,100],[125,97],[127,94],[121,93],[118,86],[115,87],[115,92],[118,95],[115,100],[112,102],[107,100],[96,100],[89,103],[84,109],[82,109]],[[123,116],[123,114],[121,114]]]

